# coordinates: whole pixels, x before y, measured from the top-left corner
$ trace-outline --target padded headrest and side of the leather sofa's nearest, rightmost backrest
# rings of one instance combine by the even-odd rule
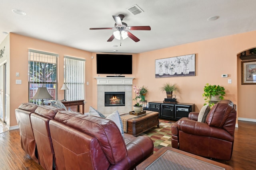
[[[72,115],[66,111],[58,111],[54,119],[96,137],[111,164],[127,157],[124,139],[113,121],[82,114]]]

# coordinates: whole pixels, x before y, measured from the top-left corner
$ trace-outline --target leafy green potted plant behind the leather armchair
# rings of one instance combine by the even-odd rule
[[[206,84],[204,86],[204,93],[203,96],[205,97],[204,100],[205,104],[209,104],[210,107],[212,107],[216,102],[223,100],[225,96],[225,88],[220,85],[210,85]]]

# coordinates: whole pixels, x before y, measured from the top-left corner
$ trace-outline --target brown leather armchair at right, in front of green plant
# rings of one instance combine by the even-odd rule
[[[172,125],[172,147],[199,156],[230,160],[236,125],[236,105],[230,100],[215,104],[206,122],[191,112]]]

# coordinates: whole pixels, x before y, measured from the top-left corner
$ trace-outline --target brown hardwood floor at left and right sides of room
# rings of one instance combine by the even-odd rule
[[[230,161],[221,161],[235,170],[254,170],[256,164],[256,122],[238,121],[233,154]],[[42,170],[20,146],[19,129],[0,134],[0,170]]]

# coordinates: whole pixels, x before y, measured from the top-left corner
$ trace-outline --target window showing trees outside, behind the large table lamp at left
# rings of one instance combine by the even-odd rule
[[[57,57],[57,54],[29,49],[29,102],[40,104],[40,100],[31,99],[38,87],[46,87],[53,97],[53,99],[44,99],[44,101],[56,100]]]

